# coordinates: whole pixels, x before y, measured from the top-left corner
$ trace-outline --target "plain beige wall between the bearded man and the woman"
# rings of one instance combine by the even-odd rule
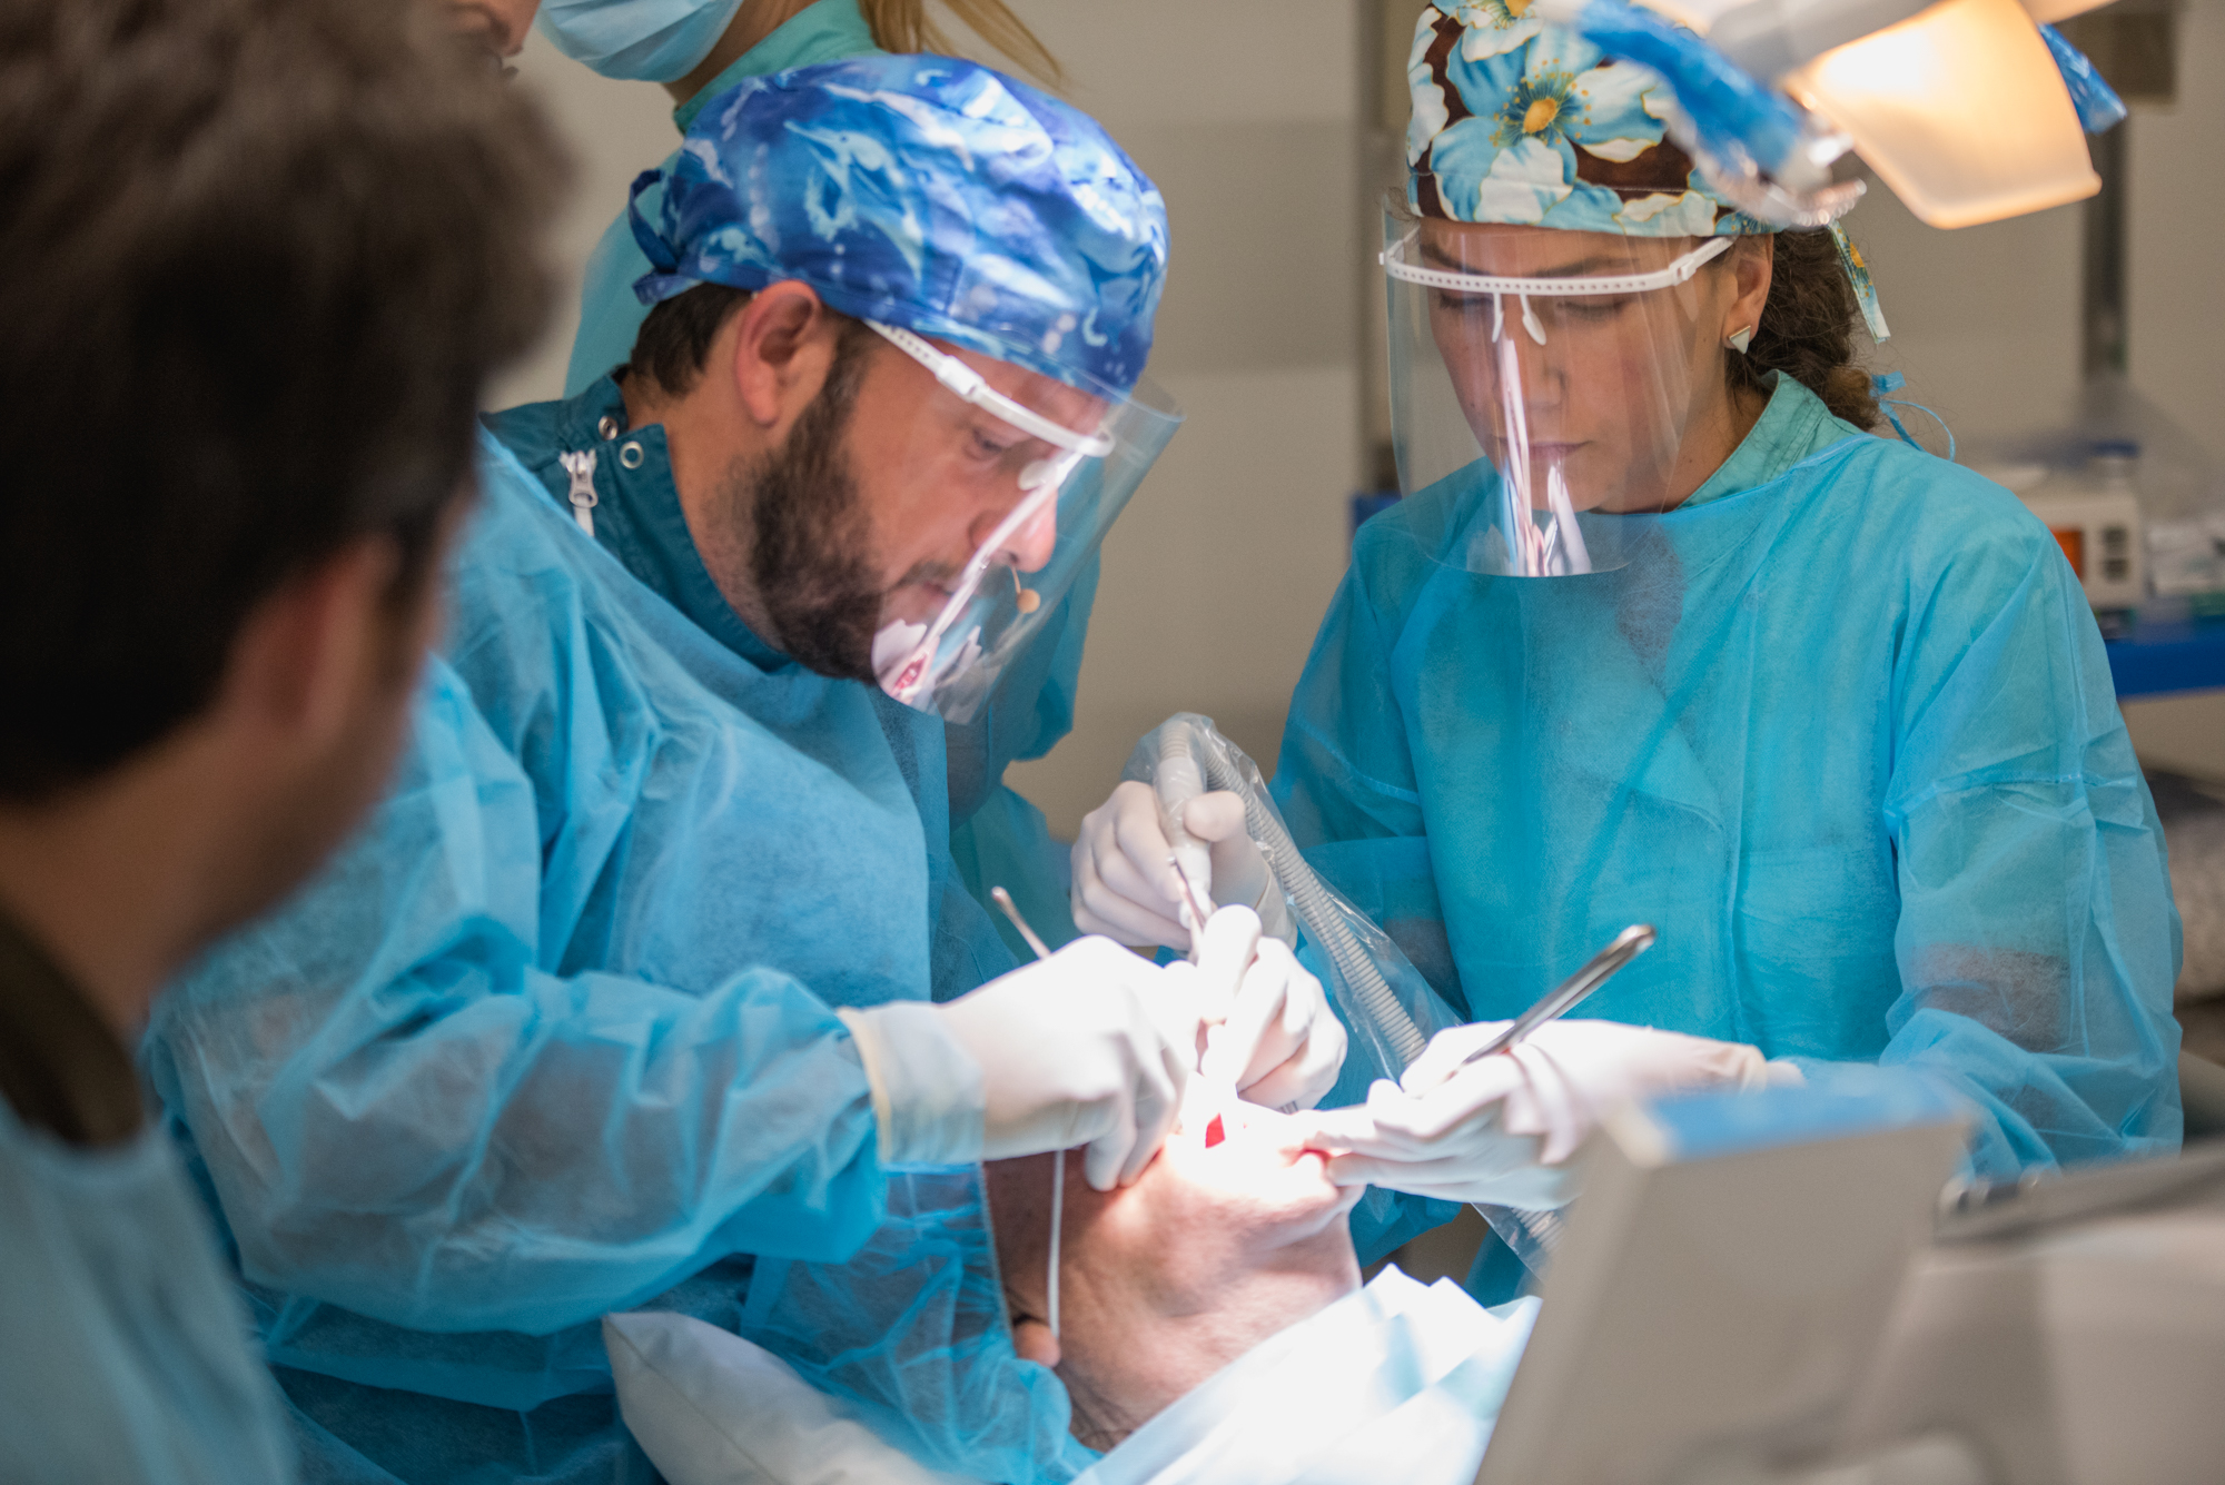
[[[1190,413],[1106,540],[1075,736],[1012,769],[1059,831],[1168,711],[1273,769],[1362,480],[1359,7],[1024,0],[1166,193],[1153,376]]]

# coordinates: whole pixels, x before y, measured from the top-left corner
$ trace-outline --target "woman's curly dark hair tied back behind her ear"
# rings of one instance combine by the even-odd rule
[[[1780,231],[1769,300],[1747,353],[1724,351],[1733,391],[1769,396],[1769,373],[1782,371],[1860,429],[1878,427],[1878,398],[1869,369],[1856,360],[1853,327],[1862,305],[1838,260],[1829,231]]]

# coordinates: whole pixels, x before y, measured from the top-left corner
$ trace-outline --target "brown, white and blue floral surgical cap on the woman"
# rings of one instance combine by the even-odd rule
[[[1642,238],[1771,231],[1664,138],[1678,104],[1660,73],[1531,18],[1524,0],[1446,9],[1422,11],[1406,64],[1415,211]]]

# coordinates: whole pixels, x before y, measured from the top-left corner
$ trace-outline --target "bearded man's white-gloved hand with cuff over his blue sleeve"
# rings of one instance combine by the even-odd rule
[[[837,1014],[872,1085],[883,1165],[1088,1145],[1099,1192],[1159,1152],[1199,1045],[1197,996],[1106,938],[1077,938],[948,1005]]]

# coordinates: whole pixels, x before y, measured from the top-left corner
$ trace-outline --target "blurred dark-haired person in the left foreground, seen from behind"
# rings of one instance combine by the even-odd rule
[[[378,798],[561,160],[423,4],[0,11],[0,1474],[294,1474],[131,1047]]]

